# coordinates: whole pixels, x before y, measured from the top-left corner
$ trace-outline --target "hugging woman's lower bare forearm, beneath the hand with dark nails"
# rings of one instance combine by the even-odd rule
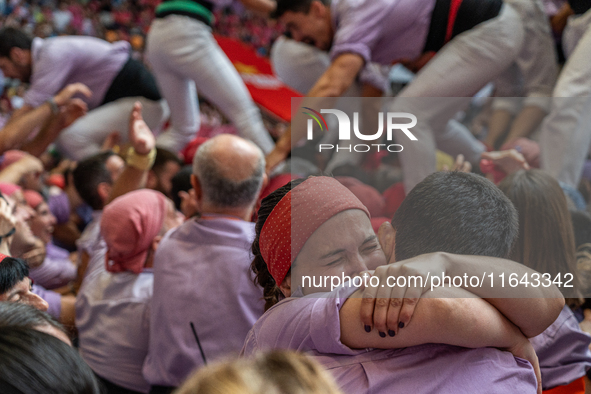
[[[468,348],[513,346],[523,334],[491,304],[470,297],[463,289],[437,288],[421,298],[412,324],[394,337],[382,338],[376,330],[365,332],[359,309],[361,298],[349,298],[340,313],[341,342],[351,348],[402,348],[444,343]]]

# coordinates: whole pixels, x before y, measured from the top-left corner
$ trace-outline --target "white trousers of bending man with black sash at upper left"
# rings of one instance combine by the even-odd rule
[[[89,111],[64,129],[56,140],[57,149],[73,160],[82,160],[100,152],[105,138],[114,131],[119,132],[122,142],[127,142],[129,117],[136,101],[142,103],[146,124],[158,134],[169,116],[166,102],[124,97]]]

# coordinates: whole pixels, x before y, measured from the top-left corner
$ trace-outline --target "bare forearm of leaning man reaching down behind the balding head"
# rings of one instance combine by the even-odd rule
[[[316,81],[316,84],[310,89],[306,97],[339,97],[343,94],[349,86],[353,84],[357,74],[363,68],[365,61],[363,58],[354,53],[343,53],[333,60],[328,69],[322,74],[322,76]],[[305,99],[304,99],[305,100]],[[305,102],[305,101],[304,101]],[[334,100],[328,100],[327,103],[332,103]],[[308,106],[304,104],[302,106]],[[323,108],[327,108],[323,106]],[[301,111],[297,111],[292,119],[292,124],[300,124],[297,117]],[[302,123],[303,124],[303,123]],[[266,168],[267,172],[271,171],[279,163],[281,163],[289,152],[291,151],[291,142],[299,141],[306,133],[304,127],[296,127],[292,136],[291,126],[287,128],[287,131],[281,136],[275,145],[275,149],[271,151],[266,157]]]

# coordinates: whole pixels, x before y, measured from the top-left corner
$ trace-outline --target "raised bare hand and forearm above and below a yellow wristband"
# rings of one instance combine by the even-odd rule
[[[138,155],[148,155],[156,146],[154,135],[142,118],[142,105],[140,102],[135,103],[129,118],[129,141]],[[148,171],[149,168],[138,169],[126,165],[113,185],[109,202],[125,193],[145,187]]]

